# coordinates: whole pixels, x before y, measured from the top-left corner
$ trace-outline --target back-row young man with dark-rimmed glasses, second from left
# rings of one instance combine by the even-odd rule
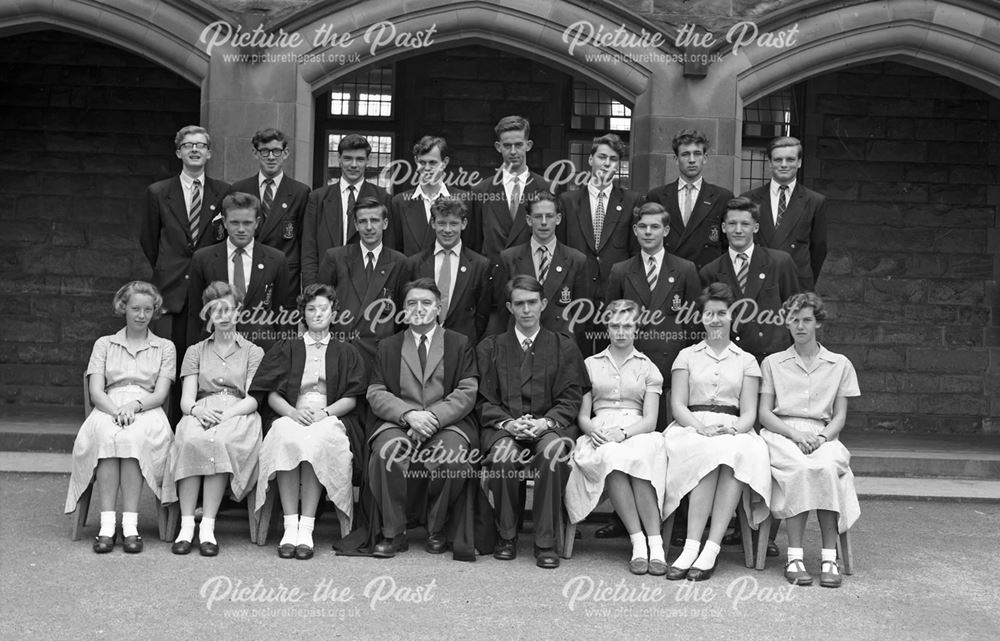
[[[260,223],[257,242],[281,250],[288,260],[290,288],[299,292],[302,271],[302,217],[309,199],[309,186],[286,176],[288,138],[277,129],[262,129],[250,141],[259,171],[256,176],[238,180],[229,193],[241,191],[260,199]]]

